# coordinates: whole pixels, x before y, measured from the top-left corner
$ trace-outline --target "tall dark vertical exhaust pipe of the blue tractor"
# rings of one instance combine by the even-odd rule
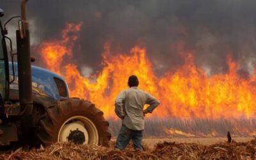
[[[31,112],[33,110],[29,24],[26,17],[27,1],[28,0],[22,0],[22,25],[19,30],[16,31],[19,74],[19,99],[20,106],[22,108],[22,115],[26,116],[31,115]]]

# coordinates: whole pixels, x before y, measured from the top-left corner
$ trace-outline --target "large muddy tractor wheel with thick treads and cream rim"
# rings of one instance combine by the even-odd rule
[[[75,140],[77,144],[93,143],[108,147],[111,139],[109,123],[102,111],[87,100],[57,101],[56,105],[46,109],[38,125],[36,136],[44,145]]]

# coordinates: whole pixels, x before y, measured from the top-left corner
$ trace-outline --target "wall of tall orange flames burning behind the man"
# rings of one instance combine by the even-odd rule
[[[83,77],[72,61],[72,47],[79,38],[79,24],[67,24],[61,40],[42,42],[39,52],[46,68],[65,77],[70,95],[95,103],[108,118],[116,117],[114,101],[127,88],[127,78],[138,76],[140,88],[161,101],[154,112],[159,117],[177,118],[252,118],[256,114],[256,70],[250,77],[237,74],[239,63],[227,56],[228,72],[207,76],[195,66],[193,54],[188,53],[182,67],[157,77],[147,50],[133,47],[129,54],[110,52],[104,45],[102,71],[97,76]],[[96,79],[91,81],[91,79]]]

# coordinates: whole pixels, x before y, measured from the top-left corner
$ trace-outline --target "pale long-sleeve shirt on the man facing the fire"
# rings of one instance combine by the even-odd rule
[[[159,100],[137,87],[131,87],[120,92],[115,100],[115,113],[122,118],[122,124],[129,129],[142,131],[145,127],[143,107],[147,107],[147,113],[152,111],[160,104]]]

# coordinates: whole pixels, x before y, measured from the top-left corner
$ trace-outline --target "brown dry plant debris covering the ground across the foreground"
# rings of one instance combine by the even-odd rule
[[[246,143],[223,142],[214,145],[196,143],[158,143],[145,151],[135,151],[132,144],[125,150],[115,150],[114,141],[110,147],[95,145],[74,145],[73,143],[55,143],[49,147],[32,149],[29,152],[16,151],[1,154],[0,159],[256,159],[256,139]]]

